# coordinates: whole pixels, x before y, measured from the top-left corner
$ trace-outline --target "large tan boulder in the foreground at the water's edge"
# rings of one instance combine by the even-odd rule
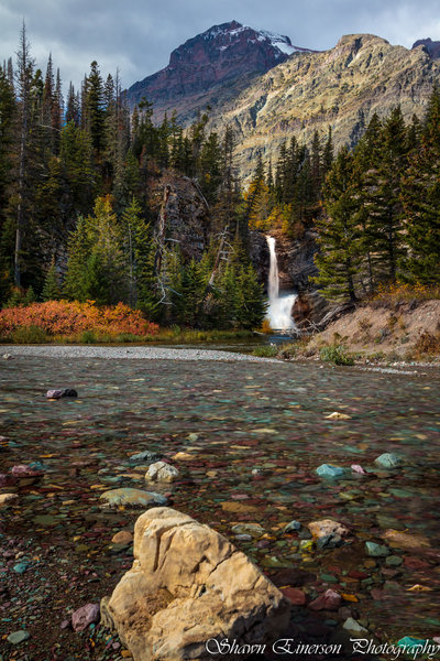
[[[138,519],[133,550],[108,610],[134,661],[208,660],[210,639],[264,644],[286,629],[289,602],[208,525],[154,508]]]

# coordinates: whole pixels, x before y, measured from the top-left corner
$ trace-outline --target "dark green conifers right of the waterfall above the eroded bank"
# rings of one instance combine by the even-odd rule
[[[422,122],[373,115],[356,147],[340,150],[316,223],[317,282],[337,300],[396,281],[440,282],[440,91]]]

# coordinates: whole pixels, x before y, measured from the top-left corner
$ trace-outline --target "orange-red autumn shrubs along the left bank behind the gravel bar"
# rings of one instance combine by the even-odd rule
[[[85,330],[119,335],[147,336],[158,332],[157,324],[147,322],[139,310],[123,303],[113,307],[97,307],[94,301],[48,301],[25,307],[7,307],[0,311],[0,338],[22,327],[36,326],[50,336],[73,335]]]

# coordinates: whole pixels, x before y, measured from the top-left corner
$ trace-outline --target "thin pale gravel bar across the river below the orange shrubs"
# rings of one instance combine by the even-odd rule
[[[136,360],[217,360],[227,362],[279,362],[248,354],[210,349],[170,349],[168,347],[96,347],[75,345],[3,345],[3,358],[9,356],[43,356],[45,358],[131,358]]]

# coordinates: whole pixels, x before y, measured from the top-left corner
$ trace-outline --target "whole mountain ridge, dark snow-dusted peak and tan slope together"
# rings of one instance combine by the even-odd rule
[[[406,121],[422,119],[440,83],[440,42],[394,46],[372,34],[342,36],[329,51],[299,48],[288,36],[253,30],[237,21],[215,25],[173,51],[164,69],[128,90],[131,105],[143,96],[158,122],[176,109],[184,126],[210,107],[209,129],[230,124],[244,181],[257,153],[276,162],[280,143],[332,129],[336,148],[353,145],[374,112],[400,105]]]

